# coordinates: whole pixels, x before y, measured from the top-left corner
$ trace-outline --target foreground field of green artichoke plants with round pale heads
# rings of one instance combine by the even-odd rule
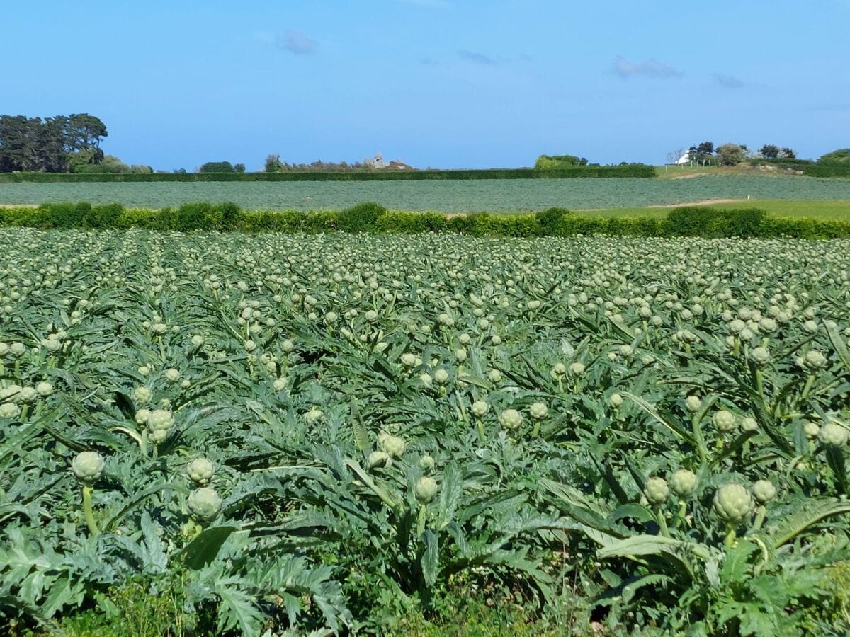
[[[850,630],[847,241],[0,245],[13,632]]]

